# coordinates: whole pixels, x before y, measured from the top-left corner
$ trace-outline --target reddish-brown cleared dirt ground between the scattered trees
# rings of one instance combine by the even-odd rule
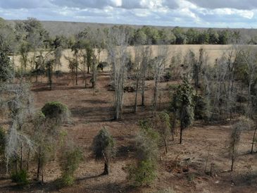
[[[41,79],[39,79],[41,80]],[[43,79],[44,80],[44,79]],[[19,189],[11,180],[0,180],[0,192],[158,192],[173,189],[174,192],[257,192],[257,154],[249,154],[253,132],[244,132],[239,148],[239,157],[235,162],[234,172],[230,170],[230,157],[227,154],[227,139],[231,129],[229,124],[205,125],[194,123],[184,131],[183,144],[169,141],[168,154],[161,149],[158,178],[149,187],[135,188],[126,179],[125,166],[133,161],[133,138],[139,126],[138,120],[151,117],[152,87],[146,82],[146,107],[139,106],[134,115],[134,93],[125,93],[125,110],[120,121],[113,118],[113,94],[108,91],[110,77],[101,73],[96,89],[84,89],[82,79],[79,85],[73,85],[65,75],[58,85],[49,91],[46,83],[37,83],[32,87],[35,94],[36,108],[42,108],[47,101],[61,101],[70,109],[73,124],[64,125],[73,141],[84,152],[84,161],[76,173],[76,182],[72,187],[57,189],[54,180],[61,172],[57,161],[51,161],[45,168],[44,186],[32,183],[30,187]],[[168,107],[168,85],[176,82],[161,83],[162,98],[159,108]],[[139,97],[140,98],[140,97]],[[139,99],[140,104],[140,99]],[[91,156],[90,145],[93,137],[102,127],[107,127],[116,140],[117,155],[111,163],[111,173],[100,175],[104,164],[96,162]],[[210,152],[208,156],[208,151]],[[206,157],[207,171],[213,163],[213,175],[204,173]],[[30,171],[35,178],[36,167]]]

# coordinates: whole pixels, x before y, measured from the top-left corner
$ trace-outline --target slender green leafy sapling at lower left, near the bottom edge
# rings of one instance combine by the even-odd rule
[[[62,152],[61,161],[61,186],[73,185],[74,173],[82,161],[82,151],[77,147],[68,147]]]

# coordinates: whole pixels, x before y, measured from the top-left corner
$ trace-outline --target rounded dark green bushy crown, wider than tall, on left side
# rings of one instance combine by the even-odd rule
[[[42,107],[42,113],[46,118],[61,118],[68,113],[68,108],[58,101],[51,101]]]

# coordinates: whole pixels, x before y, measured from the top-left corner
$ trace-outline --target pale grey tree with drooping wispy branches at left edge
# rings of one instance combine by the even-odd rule
[[[12,118],[6,137],[7,173],[11,159],[14,161],[15,172],[18,173],[18,168],[23,170],[23,155],[26,152],[29,154],[31,150],[34,151],[35,146],[32,139],[30,139],[28,133],[30,127],[27,125],[34,112],[32,94],[29,85],[23,80],[6,85],[5,89],[2,89],[1,92],[4,93],[3,98],[1,98],[1,104],[7,104],[7,106],[2,107],[8,108]]]

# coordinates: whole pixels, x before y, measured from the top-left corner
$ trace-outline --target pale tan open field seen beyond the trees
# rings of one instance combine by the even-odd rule
[[[215,62],[215,59],[220,57],[224,51],[227,51],[227,49],[230,49],[231,45],[168,45],[168,58],[167,58],[167,66],[170,63],[170,58],[173,56],[181,53],[182,56],[191,49],[194,51],[194,53],[199,53],[199,49],[203,48],[206,51],[206,54],[208,56],[208,63],[212,65]],[[158,46],[151,46],[152,50],[152,56],[158,55]],[[134,58],[134,47],[129,46],[128,52]],[[37,53],[39,54],[39,53]],[[37,56],[36,54],[36,56]],[[44,54],[44,53],[43,53]],[[29,58],[32,58],[32,53],[29,54]],[[65,59],[65,56],[67,57],[73,57],[73,53],[70,49],[66,49],[63,51],[63,56],[61,57],[61,68],[63,72],[68,72],[68,61]],[[106,61],[107,60],[107,53],[106,51],[102,51],[100,55],[100,61]],[[14,56],[13,61],[15,63],[16,68],[20,66],[20,56]],[[29,65],[30,66],[30,65]]]

